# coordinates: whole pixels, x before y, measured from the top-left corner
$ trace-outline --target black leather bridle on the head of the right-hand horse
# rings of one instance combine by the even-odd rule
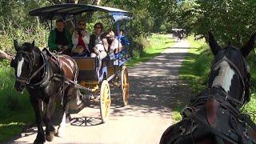
[[[234,50],[239,50],[238,48],[234,46],[228,46],[227,48],[232,48]],[[223,56],[218,62],[215,62],[214,65],[211,67],[211,72],[214,71],[216,67],[218,67],[222,62],[227,62],[232,69],[238,74],[239,80],[242,83],[242,99],[236,100],[232,97],[230,97],[229,94],[226,94],[226,99],[229,97],[232,101],[240,104],[241,106],[244,105],[246,102],[250,101],[250,66],[248,66],[246,59],[242,56],[242,62],[245,66],[245,76],[242,75],[241,70],[238,69],[238,66],[234,64],[234,62],[230,61],[230,59]],[[210,77],[209,77],[210,78]],[[210,80],[208,79],[208,87],[210,87]]]

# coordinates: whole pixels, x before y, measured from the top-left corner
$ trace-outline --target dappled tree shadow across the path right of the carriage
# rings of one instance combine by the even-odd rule
[[[148,114],[159,114],[163,118],[170,118],[175,104],[186,106],[190,98],[189,90],[186,90],[186,84],[178,81],[180,64],[186,54],[163,53],[149,62],[129,68],[129,105],[114,109],[111,115],[147,117]],[[121,93],[114,92],[111,99],[122,101],[120,95]]]

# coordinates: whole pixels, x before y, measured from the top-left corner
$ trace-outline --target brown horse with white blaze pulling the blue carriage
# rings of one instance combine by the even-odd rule
[[[26,88],[30,94],[30,102],[34,108],[38,126],[38,135],[34,143],[52,141],[54,134],[62,137],[66,125],[68,102],[71,96],[76,97],[78,94],[74,85],[65,81],[68,78],[76,82],[78,73],[76,62],[67,55],[50,56],[50,53],[42,52],[34,46],[34,42],[25,42],[19,46],[18,42],[14,41],[14,47],[17,54],[10,64],[15,69],[14,87],[19,92]],[[62,122],[55,132],[54,126],[50,124],[50,117],[59,96],[62,98]],[[44,118],[40,109],[42,102],[46,105]],[[46,125],[46,136],[42,129],[42,120]]]

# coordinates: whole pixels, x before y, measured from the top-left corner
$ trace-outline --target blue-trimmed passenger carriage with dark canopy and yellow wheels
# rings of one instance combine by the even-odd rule
[[[56,18],[71,18],[75,23],[77,14],[91,11],[102,11],[109,14],[110,18],[113,18],[113,21],[118,27],[118,33],[120,33],[119,21],[130,19],[130,13],[124,10],[105,6],[89,6],[78,4],[46,6],[36,10],[31,10],[30,15],[38,16],[44,21],[50,20],[50,30],[52,30],[52,21]],[[92,99],[88,98],[90,94],[82,93],[82,100],[83,102],[86,100],[94,102],[99,101],[102,122],[106,122],[106,118],[108,118],[110,114],[111,99],[109,82],[112,82],[114,84],[113,86],[122,88],[123,106],[128,104],[129,78],[127,68],[124,66],[125,62],[128,60],[128,58],[126,58],[127,52],[128,50],[126,48],[116,54],[108,54],[106,58],[102,59],[102,66],[99,72],[96,70],[98,66],[97,58],[72,57],[78,65],[79,85],[76,87],[80,90],[89,90],[93,92],[94,97],[90,97]],[[116,80],[120,80],[120,82],[114,82]]]

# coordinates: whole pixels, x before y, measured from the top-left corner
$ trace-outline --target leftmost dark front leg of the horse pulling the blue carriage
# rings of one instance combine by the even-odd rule
[[[35,138],[34,143],[46,142],[45,133],[42,129],[42,117],[41,117],[41,110],[39,106],[41,103],[39,102],[38,98],[33,98],[32,96],[30,96],[30,102],[33,106],[34,115],[35,115],[36,123],[38,126],[38,135],[37,135],[37,138]]]

